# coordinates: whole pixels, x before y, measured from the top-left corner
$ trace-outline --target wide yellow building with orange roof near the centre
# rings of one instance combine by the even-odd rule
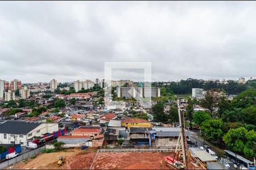
[[[123,127],[130,129],[130,127],[151,127],[150,121],[141,119],[141,118],[130,118],[126,120],[122,120]]]

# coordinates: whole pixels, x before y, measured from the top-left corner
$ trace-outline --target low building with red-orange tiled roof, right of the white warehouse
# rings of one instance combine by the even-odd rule
[[[80,126],[71,132],[72,136],[88,136],[90,138],[97,137],[101,134],[100,126]]]

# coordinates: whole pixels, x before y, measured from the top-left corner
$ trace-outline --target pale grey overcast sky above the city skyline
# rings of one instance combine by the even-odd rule
[[[0,2],[0,79],[94,80],[106,61],[150,61],[152,80],[255,78],[255,56],[256,2]]]

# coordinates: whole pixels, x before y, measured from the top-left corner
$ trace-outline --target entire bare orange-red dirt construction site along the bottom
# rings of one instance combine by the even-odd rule
[[[23,160],[8,169],[171,169],[164,162],[167,152],[101,152],[96,150],[67,150],[39,154],[35,158]],[[58,167],[59,156],[66,162]],[[162,160],[162,166],[160,166]]]

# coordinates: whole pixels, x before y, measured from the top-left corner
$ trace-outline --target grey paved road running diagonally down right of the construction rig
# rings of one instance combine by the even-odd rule
[[[214,152],[216,152],[218,158],[221,159],[223,151],[218,149],[217,147],[213,147],[212,145],[210,145],[210,143],[205,142],[203,139],[200,139],[199,137],[197,137],[197,134],[200,134],[200,131],[189,131],[189,139],[191,139],[192,142],[197,143],[197,147],[209,145],[210,150],[213,150]],[[230,169],[236,169],[234,168],[234,163],[232,163],[230,160],[225,158],[224,160],[226,163],[229,164]],[[237,169],[239,169],[239,167]]]

